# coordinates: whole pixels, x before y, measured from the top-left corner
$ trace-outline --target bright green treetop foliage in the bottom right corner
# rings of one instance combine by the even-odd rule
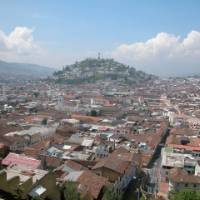
[[[200,190],[182,189],[178,192],[172,192],[169,195],[170,200],[199,200]]]

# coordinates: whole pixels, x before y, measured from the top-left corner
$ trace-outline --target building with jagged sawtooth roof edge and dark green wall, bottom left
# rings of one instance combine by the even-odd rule
[[[28,169],[13,165],[0,171],[0,190],[10,195],[19,194],[21,199],[42,197],[59,200],[55,175],[41,169]]]

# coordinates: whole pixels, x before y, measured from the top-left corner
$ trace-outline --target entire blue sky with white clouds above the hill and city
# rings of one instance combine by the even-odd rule
[[[0,59],[61,67],[98,52],[151,73],[200,72],[200,1],[0,0]]]

